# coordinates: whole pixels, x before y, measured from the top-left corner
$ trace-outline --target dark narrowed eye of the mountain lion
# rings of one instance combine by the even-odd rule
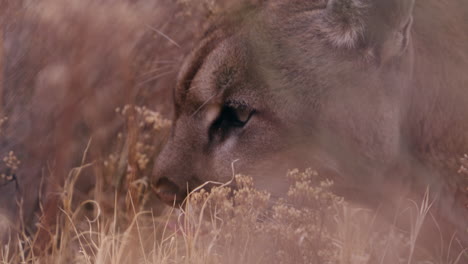
[[[254,110],[245,104],[229,103],[223,106],[218,118],[210,128],[210,135],[226,134],[232,129],[245,126],[254,114]]]

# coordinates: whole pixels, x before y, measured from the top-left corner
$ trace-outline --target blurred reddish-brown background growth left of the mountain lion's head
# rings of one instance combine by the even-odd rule
[[[18,190],[0,187],[0,208],[24,220],[30,234],[42,217],[47,238],[65,180],[89,142],[85,163],[92,166],[75,194],[83,197],[103,177],[103,160],[123,129],[116,108],[145,105],[170,116],[171,87],[205,11],[170,0],[14,2],[0,24],[1,115],[9,117],[0,155],[14,151],[21,166]],[[16,199],[24,199],[23,219]]]

